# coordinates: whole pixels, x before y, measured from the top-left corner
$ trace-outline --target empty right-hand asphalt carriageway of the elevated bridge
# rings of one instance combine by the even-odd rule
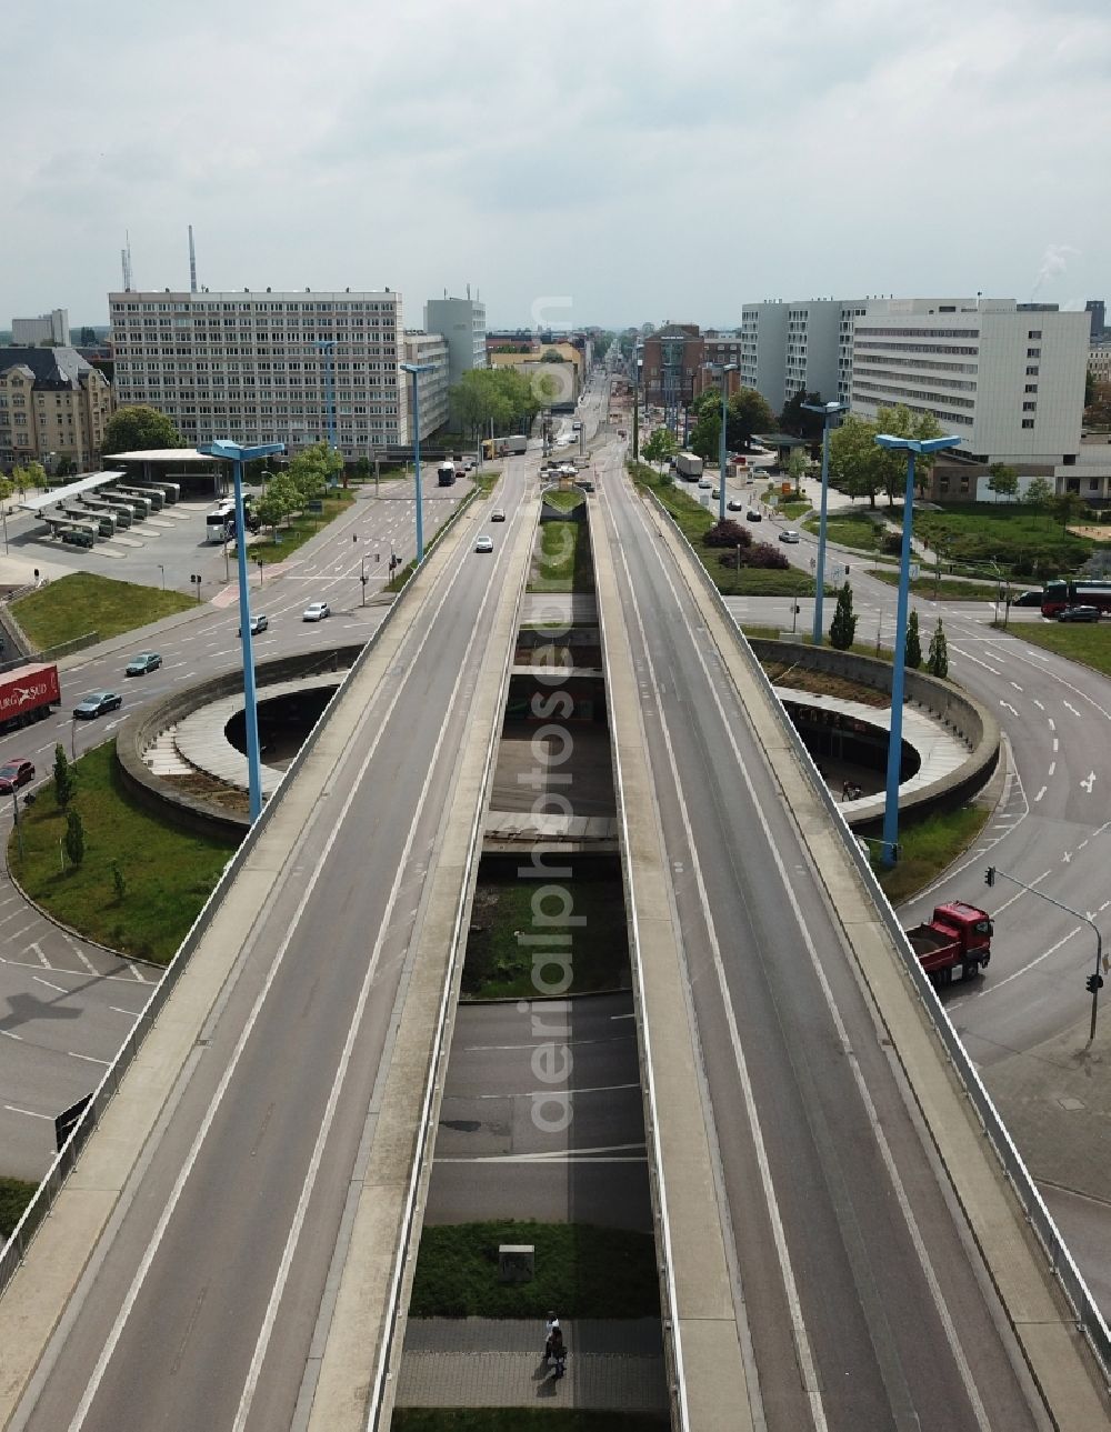
[[[616,461],[600,507],[720,1153],[753,1423],[1045,1426],[976,1253],[981,1210],[958,1213],[849,952],[863,905],[846,882],[832,909],[714,644],[724,627],[707,626]],[[813,838],[823,822],[809,823]],[[1021,1220],[1014,1230],[1021,1242]],[[1100,1425],[1105,1405],[1088,1399]]]

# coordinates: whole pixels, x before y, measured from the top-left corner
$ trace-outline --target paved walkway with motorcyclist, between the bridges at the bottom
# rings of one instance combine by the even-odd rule
[[[561,1319],[567,1373],[544,1366],[541,1322],[414,1319],[398,1378],[399,1408],[531,1408],[667,1412],[660,1325]]]

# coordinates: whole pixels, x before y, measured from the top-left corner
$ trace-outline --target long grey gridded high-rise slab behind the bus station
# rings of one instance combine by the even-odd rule
[[[401,295],[109,294],[120,405],[149,404],[189,445],[334,437],[348,460],[408,441]]]

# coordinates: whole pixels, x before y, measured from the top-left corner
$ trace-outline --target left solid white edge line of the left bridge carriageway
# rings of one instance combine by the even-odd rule
[[[462,567],[457,569],[457,576],[462,570],[464,570]],[[491,571],[490,580],[493,581],[493,571]],[[448,599],[451,597],[452,589],[454,589],[454,579],[452,579],[452,581],[448,583],[448,586],[447,586],[447,589],[444,591],[444,596],[440,599],[438,606],[431,613],[431,617],[428,620],[425,632],[424,632],[422,637],[419,639],[419,642],[417,643],[415,652],[412,653],[412,660],[409,663],[409,669],[417,664],[417,659],[424,652],[425,643],[431,639],[432,630],[435,629],[435,619],[440,614],[440,611],[442,610],[442,607],[447,604]],[[475,633],[477,632],[478,632],[478,623],[475,623]],[[471,640],[474,640],[474,634],[471,636]],[[135,1303],[139,1299],[139,1293],[142,1292],[143,1283],[146,1282],[146,1274],[150,1272],[150,1266],[155,1262],[155,1257],[157,1256],[157,1250],[159,1250],[159,1247],[162,1244],[162,1239],[166,1236],[166,1229],[169,1227],[170,1217],[173,1216],[173,1211],[178,1207],[178,1203],[180,1200],[180,1196],[182,1196],[183,1189],[185,1189],[185,1184],[186,1184],[186,1181],[189,1179],[189,1174],[193,1171],[193,1166],[196,1164],[196,1160],[200,1156],[200,1148],[202,1148],[202,1146],[205,1143],[205,1138],[208,1137],[209,1128],[212,1127],[212,1124],[213,1124],[213,1121],[216,1118],[216,1114],[219,1113],[220,1104],[223,1103],[223,1095],[228,1093],[228,1087],[231,1085],[232,1080],[235,1078],[235,1071],[239,1067],[239,1060],[243,1055],[243,1050],[246,1048],[248,1041],[251,1038],[251,1034],[252,1034],[252,1031],[255,1028],[255,1024],[258,1022],[258,1017],[262,1012],[262,1005],[265,1004],[266,997],[269,995],[271,988],[273,985],[273,981],[278,978],[278,972],[279,972],[282,964],[285,962],[286,951],[289,949],[289,945],[293,941],[293,935],[296,934],[296,929],[298,929],[298,927],[301,924],[301,919],[302,919],[302,916],[305,914],[305,908],[308,906],[308,902],[312,898],[312,892],[316,888],[316,882],[321,878],[321,874],[322,874],[322,871],[325,868],[325,863],[326,863],[328,856],[329,856],[329,853],[332,851],[332,846],[335,845],[336,839],[339,838],[339,832],[344,828],[344,823],[345,823],[346,816],[348,816],[348,813],[351,811],[351,806],[352,806],[352,803],[355,802],[355,799],[359,795],[359,785],[361,785],[364,776],[367,775],[367,769],[371,765],[371,760],[374,759],[375,752],[378,750],[378,743],[379,743],[379,740],[382,737],[382,733],[385,732],[385,729],[387,729],[387,726],[389,723],[389,717],[391,717],[391,715],[394,712],[394,707],[397,706],[398,700],[401,699],[401,693],[404,692],[404,689],[405,689],[405,683],[404,682],[398,682],[395,684],[392,696],[389,699],[389,705],[387,706],[385,712],[382,713],[382,716],[381,716],[381,719],[378,722],[378,727],[377,727],[377,730],[374,733],[374,739],[371,742],[369,750],[367,752],[367,755],[362,759],[362,763],[359,765],[358,773],[356,773],[355,779],[351,783],[351,789],[348,790],[346,799],[344,800],[344,803],[342,803],[342,806],[339,809],[339,815],[338,815],[336,823],[332,828],[332,831],[329,832],[328,839],[326,839],[325,846],[324,846],[324,851],[322,851],[319,859],[316,861],[316,865],[315,865],[315,868],[312,871],[312,875],[308,879],[308,884],[305,886],[305,891],[304,891],[301,899],[298,901],[296,909],[293,911],[293,918],[292,918],[292,921],[289,924],[289,929],[286,931],[282,942],[278,945],[278,949],[275,951],[273,961],[271,962],[271,968],[266,972],[266,978],[265,978],[265,981],[262,984],[262,988],[259,990],[258,995],[255,997],[255,1002],[251,1007],[251,1014],[246,1017],[243,1028],[239,1032],[239,1038],[235,1042],[235,1048],[232,1050],[232,1055],[231,1055],[231,1058],[228,1061],[228,1067],[225,1068],[225,1071],[223,1071],[223,1074],[220,1077],[220,1081],[216,1085],[216,1091],[212,1095],[212,1100],[209,1101],[209,1107],[205,1110],[205,1117],[200,1121],[200,1127],[196,1131],[196,1137],[193,1138],[193,1143],[192,1143],[192,1146],[189,1148],[189,1153],[188,1153],[188,1156],[186,1156],[182,1167],[180,1167],[178,1179],[173,1183],[173,1189],[169,1193],[166,1204],[165,1204],[165,1207],[162,1210],[162,1216],[159,1217],[159,1221],[157,1221],[157,1224],[155,1227],[155,1232],[150,1236],[150,1242],[146,1246],[146,1252],[143,1253],[143,1256],[142,1256],[142,1259],[139,1262],[139,1267],[135,1272],[135,1277],[132,1279],[132,1285],[127,1289],[127,1293],[126,1293],[126,1296],[123,1299],[123,1305],[120,1306],[120,1310],[116,1315],[116,1320],[113,1322],[112,1329],[110,1329],[110,1332],[109,1332],[109,1335],[107,1335],[107,1337],[105,1340],[105,1346],[100,1349],[100,1356],[97,1358],[96,1366],[93,1368],[93,1370],[92,1370],[92,1373],[89,1376],[89,1382],[86,1385],[86,1389],[84,1389],[84,1393],[82,1396],[82,1400],[77,1405],[77,1411],[73,1415],[73,1421],[70,1422],[69,1432],[80,1432],[80,1428],[84,1426],[84,1419],[89,1416],[89,1411],[90,1411],[90,1408],[93,1405],[93,1400],[94,1400],[97,1392],[100,1390],[100,1383],[105,1380],[105,1373],[107,1372],[107,1366],[112,1362],[112,1358],[115,1356],[115,1352],[116,1352],[116,1348],[119,1345],[120,1337],[123,1336],[123,1329],[127,1325],[127,1319],[132,1315],[132,1309],[135,1307]],[[365,713],[364,719],[369,719],[369,709]],[[445,717],[445,720],[447,720],[447,717]],[[362,730],[362,726],[359,726],[359,730]],[[431,770],[431,766],[430,766],[430,770]],[[302,835],[304,835],[304,831],[302,831]],[[299,846],[298,846],[298,851],[299,851]],[[293,853],[296,855],[298,852],[293,852]],[[379,931],[379,938],[381,938],[381,931]],[[0,1031],[0,1032],[3,1032],[3,1031]]]

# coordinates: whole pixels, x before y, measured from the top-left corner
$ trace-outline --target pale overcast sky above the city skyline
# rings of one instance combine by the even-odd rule
[[[1111,289],[1107,0],[52,0],[4,20],[0,326],[465,284],[491,326]],[[1111,298],[1111,294],[1108,294]]]

